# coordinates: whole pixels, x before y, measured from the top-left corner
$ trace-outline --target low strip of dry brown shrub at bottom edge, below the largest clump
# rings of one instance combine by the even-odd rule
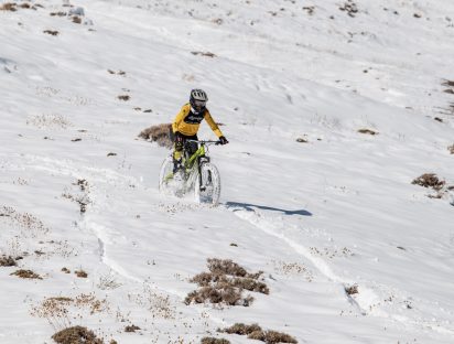
[[[282,332],[277,331],[263,331],[258,324],[246,325],[242,323],[236,323],[235,325],[218,330],[218,332],[225,332],[228,334],[239,334],[239,335],[247,335],[249,340],[262,341],[267,344],[275,344],[275,343],[292,343],[295,344],[298,341]]]

